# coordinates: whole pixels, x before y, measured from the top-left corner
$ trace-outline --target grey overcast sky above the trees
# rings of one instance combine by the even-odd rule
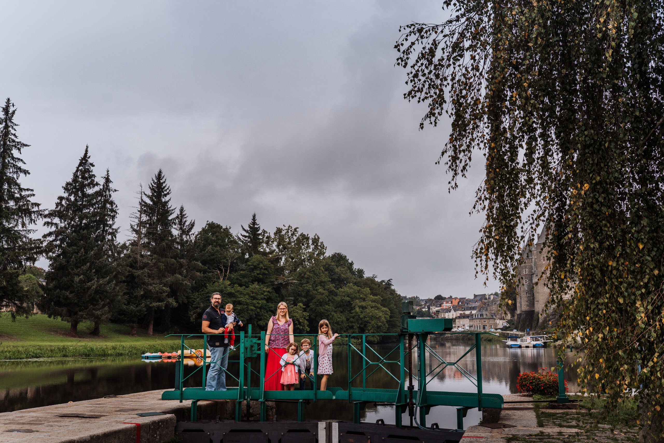
[[[472,296],[481,164],[448,193],[449,124],[418,130],[398,26],[441,1],[65,1],[2,5],[0,93],[18,108],[25,185],[51,208],[85,145],[123,230],[161,168],[197,229],[317,233],[402,295]],[[480,158],[481,161],[481,158]],[[477,166],[477,165],[476,165]],[[41,266],[48,266],[42,260]]]

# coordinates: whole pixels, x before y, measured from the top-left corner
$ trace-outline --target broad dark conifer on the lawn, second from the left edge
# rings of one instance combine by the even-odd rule
[[[109,238],[114,241],[117,232],[115,203],[104,202],[93,168],[86,146],[72,179],[62,187],[64,195],[44,222],[51,230],[44,234],[50,266],[42,307],[50,317],[70,323],[70,337],[78,337],[82,319],[94,310],[104,311],[108,298],[118,294],[115,263],[108,254]]]

